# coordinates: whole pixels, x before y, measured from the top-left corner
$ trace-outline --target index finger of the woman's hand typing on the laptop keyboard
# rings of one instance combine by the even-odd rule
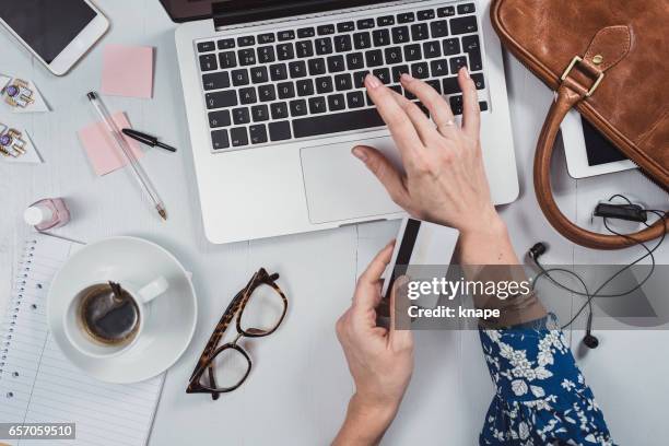
[[[392,139],[398,145],[404,164],[409,162],[416,149],[423,144],[402,107],[392,97],[394,93],[386,87],[375,75],[367,74],[365,86],[369,97],[376,105],[376,109],[382,119],[388,126]]]

